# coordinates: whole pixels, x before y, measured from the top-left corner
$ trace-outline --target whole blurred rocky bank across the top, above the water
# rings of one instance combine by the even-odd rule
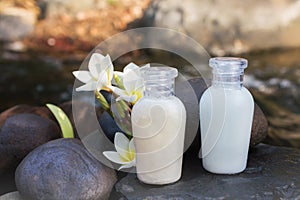
[[[240,54],[299,47],[299,10],[295,0],[2,0],[0,39],[84,51],[134,22],[186,33],[214,55]]]

